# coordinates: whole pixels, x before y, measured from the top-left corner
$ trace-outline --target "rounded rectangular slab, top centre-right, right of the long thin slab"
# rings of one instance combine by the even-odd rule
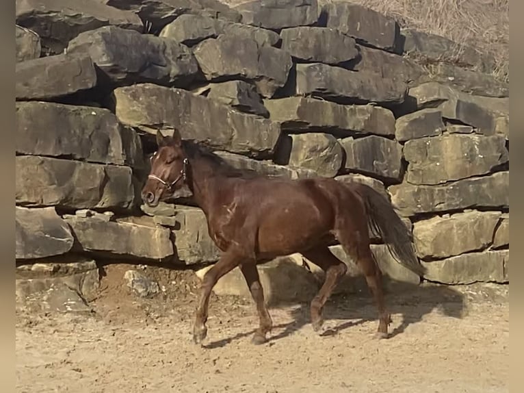
[[[303,62],[340,64],[358,55],[355,40],[327,27],[291,27],[280,31],[282,49]]]

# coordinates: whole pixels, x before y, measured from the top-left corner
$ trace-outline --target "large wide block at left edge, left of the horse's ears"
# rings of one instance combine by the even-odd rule
[[[140,167],[143,160],[135,131],[123,129],[112,112],[97,107],[18,102],[15,145],[16,153],[101,164]]]

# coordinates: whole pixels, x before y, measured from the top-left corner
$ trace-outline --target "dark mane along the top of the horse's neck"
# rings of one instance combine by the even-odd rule
[[[193,140],[182,140],[182,148],[187,154],[187,157],[190,159],[204,160],[222,176],[244,179],[261,176],[257,171],[252,169],[236,168],[224,160],[224,158],[220,157],[220,155],[214,153],[213,150],[205,144],[194,142]]]

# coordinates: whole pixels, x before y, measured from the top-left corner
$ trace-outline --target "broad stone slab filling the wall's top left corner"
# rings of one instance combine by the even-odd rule
[[[83,31],[107,25],[141,33],[144,29],[134,12],[83,0],[16,0],[16,24],[35,31],[47,55],[62,53]]]

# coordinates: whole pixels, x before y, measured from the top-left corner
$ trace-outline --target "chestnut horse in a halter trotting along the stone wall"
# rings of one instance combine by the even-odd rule
[[[326,272],[324,285],[311,301],[313,329],[322,333],[322,309],[347,266],[328,249],[336,239],[365,275],[378,307],[378,338],[388,337],[390,315],[384,304],[382,273],[369,248],[369,224],[380,233],[400,264],[422,274],[423,268],[410,232],[391,203],[373,188],[335,179],[287,179],[235,170],[222,158],[179,131],[164,137],[157,132],[158,149],[142,189],[151,207],[172,197],[183,185],[207,218],[209,236],[222,251],[219,261],[202,279],[194,320],[194,342],[207,335],[209,296],[215,283],[239,266],[257,305],[259,328],[254,344],[266,341],[272,329],[257,263],[302,253]],[[369,224],[368,224],[369,223]]]

